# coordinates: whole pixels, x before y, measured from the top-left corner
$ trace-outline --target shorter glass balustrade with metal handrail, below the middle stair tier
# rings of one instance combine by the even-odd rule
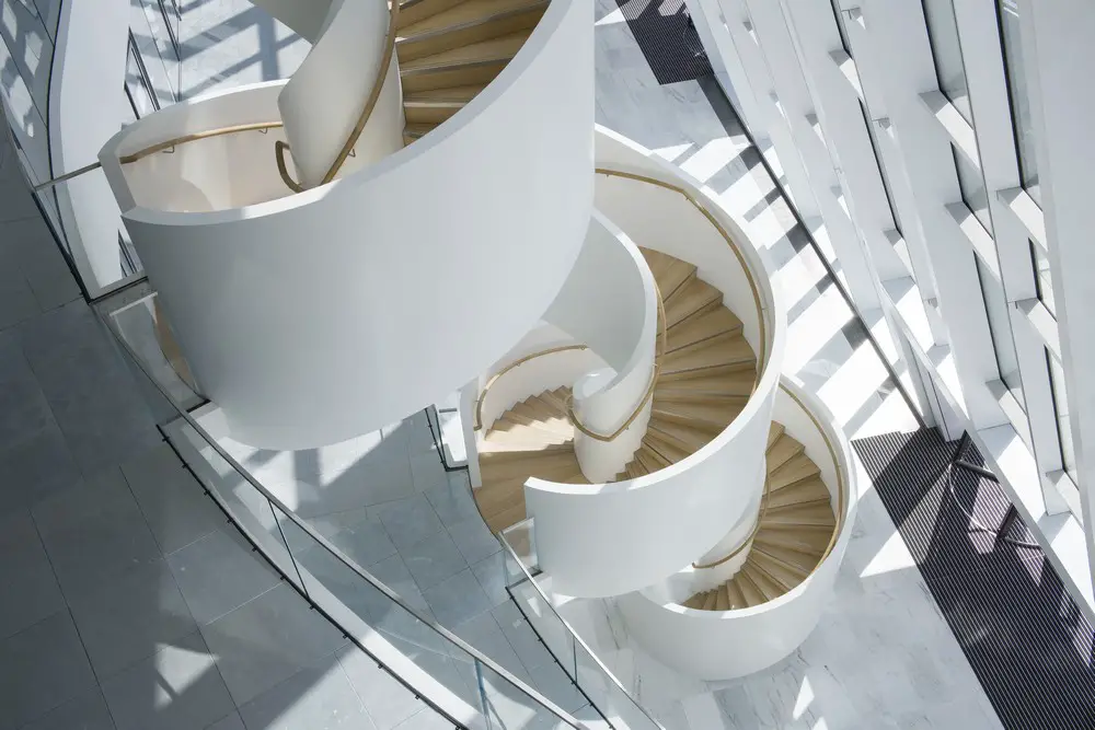
[[[593,653],[574,627],[560,615],[533,573],[539,573],[535,552],[535,521],[528,518],[498,534],[506,551],[506,589],[540,635],[555,659],[590,703],[614,728],[630,730],[665,730],[645,707],[631,696],[620,680]],[[528,584],[532,592],[515,594],[519,586]],[[619,722],[619,723],[616,723]]]

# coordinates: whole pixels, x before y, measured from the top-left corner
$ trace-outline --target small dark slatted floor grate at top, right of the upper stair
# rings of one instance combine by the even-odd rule
[[[616,0],[658,83],[692,81],[713,73],[683,0]]]

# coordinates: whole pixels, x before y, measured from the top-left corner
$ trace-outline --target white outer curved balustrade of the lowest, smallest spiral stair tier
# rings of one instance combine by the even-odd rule
[[[828,556],[789,592],[749,609],[684,607],[681,602],[710,588],[696,575],[703,571],[691,570],[619,600],[631,636],[658,660],[704,680],[758,672],[797,649],[817,626],[851,537],[857,498],[855,468],[848,440],[833,426],[832,415],[818,398],[784,378],[774,417],[806,447],[829,489],[838,532]]]

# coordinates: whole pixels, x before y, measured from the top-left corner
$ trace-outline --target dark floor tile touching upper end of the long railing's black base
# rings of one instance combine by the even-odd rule
[[[224,523],[223,513],[165,442],[125,462],[122,471],[164,555]]]

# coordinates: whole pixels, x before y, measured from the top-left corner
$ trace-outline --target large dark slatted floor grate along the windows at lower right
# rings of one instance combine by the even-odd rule
[[[935,429],[854,441],[1008,730],[1095,728],[1095,631],[1022,520],[996,530],[1010,503],[990,479],[948,473],[955,449]],[[976,449],[965,460],[981,464]],[[986,530],[988,529],[988,530]]]

